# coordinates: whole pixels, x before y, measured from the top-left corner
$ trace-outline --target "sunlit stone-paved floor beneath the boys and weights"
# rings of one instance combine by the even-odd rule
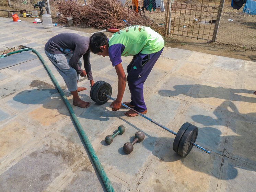
[[[14,46],[37,50],[59,84],[66,86],[44,53],[47,40],[62,32],[91,34],[65,28],[43,28],[0,17],[0,51]],[[131,57],[122,58],[124,67]],[[117,95],[117,75],[108,57],[91,55],[94,80],[103,80]],[[101,192],[104,184],[92,163],[70,113],[37,56],[22,52],[0,59],[0,191]],[[126,109],[111,111],[109,100],[90,99],[86,78],[79,95],[92,102],[86,109],[72,105],[115,191],[255,191],[256,62],[165,47],[145,83],[147,116],[177,132],[184,122],[199,128],[196,143],[182,158],[172,149],[174,135]],[[129,101],[128,86],[123,101]],[[119,125],[123,135],[111,145],[104,138]],[[137,131],[145,139],[126,155],[123,145]]]

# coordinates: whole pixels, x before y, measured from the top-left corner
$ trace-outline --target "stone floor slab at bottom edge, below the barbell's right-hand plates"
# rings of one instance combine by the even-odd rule
[[[167,146],[164,144],[159,155],[152,158],[140,180],[133,182],[133,191],[215,191],[221,156],[192,149],[182,158]]]

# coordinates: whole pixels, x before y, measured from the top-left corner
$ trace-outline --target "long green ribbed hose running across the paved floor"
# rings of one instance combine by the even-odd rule
[[[7,54],[3,55],[3,57],[11,55],[11,54],[14,54],[14,53],[19,53],[19,52],[22,52],[22,51],[30,51],[30,50],[32,52],[34,52],[38,56],[39,60],[44,64],[45,69],[47,70],[49,76],[51,77],[51,79],[53,80],[56,88],[58,89],[58,91],[59,91],[59,93],[61,95],[61,98],[65,102],[65,104],[66,104],[66,106],[67,106],[67,108],[68,108],[68,110],[69,110],[69,112],[70,112],[70,114],[71,114],[75,124],[77,125],[77,128],[78,128],[80,134],[82,135],[83,141],[84,141],[84,143],[85,143],[85,145],[86,145],[86,147],[87,147],[87,149],[88,149],[88,151],[89,151],[89,153],[90,153],[90,155],[92,157],[92,160],[93,160],[93,162],[94,162],[98,172],[100,173],[100,176],[101,176],[101,178],[102,178],[102,180],[103,180],[103,182],[105,184],[105,187],[106,187],[107,191],[108,192],[114,192],[114,188],[113,188],[112,184],[110,183],[110,181],[109,181],[109,179],[108,179],[108,177],[106,175],[106,172],[103,169],[103,167],[102,167],[102,165],[100,163],[100,160],[98,159],[98,157],[97,157],[97,155],[96,155],[96,153],[95,153],[95,151],[94,151],[94,149],[92,147],[91,142],[89,141],[87,135],[83,131],[82,125],[80,124],[77,116],[75,115],[72,106],[68,102],[68,99],[67,99],[66,95],[64,94],[64,92],[62,91],[62,89],[61,89],[58,81],[56,80],[54,74],[51,72],[50,68],[45,63],[43,57],[39,54],[39,52],[34,50],[34,49],[21,49],[21,50],[18,50],[18,51],[13,51],[13,52],[7,53]]]

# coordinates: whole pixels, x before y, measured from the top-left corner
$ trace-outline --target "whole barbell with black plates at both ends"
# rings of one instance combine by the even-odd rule
[[[95,101],[97,104],[105,104],[109,99],[115,100],[112,95],[112,87],[109,83],[105,81],[97,81],[91,88],[90,97],[93,101]],[[160,123],[146,117],[145,115],[141,114],[140,112],[130,108],[129,106],[121,103],[122,106],[126,107],[127,109],[130,109],[134,112],[136,112],[138,115],[146,118],[147,120],[153,122],[154,124],[158,125],[159,127],[165,129],[166,131],[176,135],[175,139],[173,141],[173,150],[179,154],[182,157],[186,157],[189,152],[191,151],[192,147],[195,146],[202,151],[210,154],[211,152],[201,147],[200,145],[196,144],[196,138],[198,135],[198,128],[191,124],[191,123],[184,123],[179,131],[176,133],[167,127],[161,125]]]

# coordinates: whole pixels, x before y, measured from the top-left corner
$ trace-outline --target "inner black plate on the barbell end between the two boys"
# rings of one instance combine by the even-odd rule
[[[105,96],[103,93],[106,93],[107,95],[112,95],[112,87],[107,82],[100,82],[98,85],[94,88],[93,91],[93,99],[97,104],[105,104],[109,100],[107,96]]]

